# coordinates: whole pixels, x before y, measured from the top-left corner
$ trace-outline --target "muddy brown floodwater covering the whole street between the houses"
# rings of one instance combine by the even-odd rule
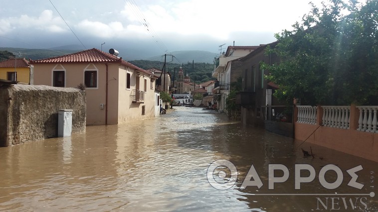
[[[378,211],[377,196],[370,195],[377,193],[377,163],[313,144],[316,157],[304,157],[301,148],[310,151],[310,144],[301,143],[183,106],[151,120],[89,126],[70,137],[0,148],[0,210]],[[236,166],[233,188],[217,190],[208,183],[206,171],[217,159]],[[252,164],[263,185],[237,189]],[[274,189],[268,188],[269,164],[283,164],[290,174]],[[295,164],[310,164],[316,171],[315,180],[299,190]],[[332,190],[319,181],[328,164],[344,175]],[[352,177],[347,170],[359,165],[362,189],[348,185]],[[224,172],[226,178],[232,174]],[[274,174],[282,175],[279,170]],[[328,183],[340,177],[326,173]]]

